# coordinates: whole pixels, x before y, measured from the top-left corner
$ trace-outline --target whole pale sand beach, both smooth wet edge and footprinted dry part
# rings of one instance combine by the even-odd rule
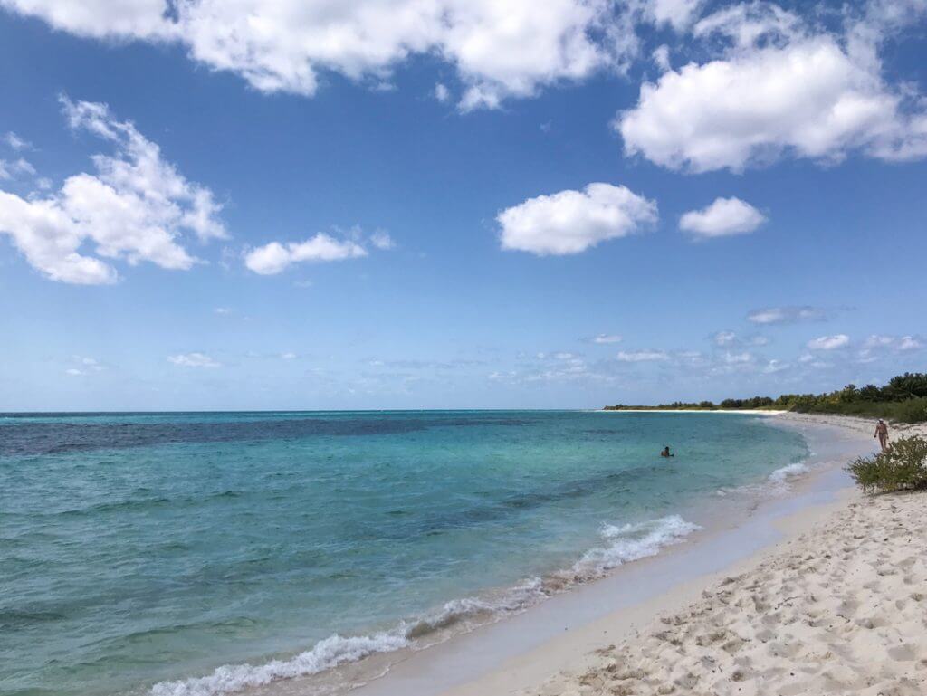
[[[786,500],[412,655],[356,693],[927,693],[927,494],[850,485],[841,460],[849,443],[871,449],[869,420],[776,417],[844,443]]]

